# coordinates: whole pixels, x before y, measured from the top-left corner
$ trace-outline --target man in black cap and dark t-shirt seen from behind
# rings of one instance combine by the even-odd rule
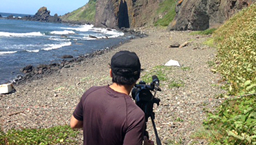
[[[120,51],[111,58],[110,86],[86,90],[71,117],[71,128],[83,128],[86,145],[142,144],[145,113],[129,93],[140,77],[134,52]],[[144,137],[144,144],[154,144]]]

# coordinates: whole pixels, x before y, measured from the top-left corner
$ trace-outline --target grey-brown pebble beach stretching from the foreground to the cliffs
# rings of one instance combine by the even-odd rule
[[[161,105],[154,108],[154,112],[158,135],[163,144],[168,144],[170,140],[179,142],[180,139],[183,144],[192,142],[190,135],[205,119],[203,108],[214,109],[219,103],[212,101],[205,106],[190,103],[214,99],[215,95],[223,91],[218,86],[212,86],[218,84],[219,75],[213,74],[207,64],[214,59],[217,51],[202,44],[208,36],[189,35],[189,32],[166,32],[154,28],[143,31],[149,36],[131,39],[116,48],[99,52],[100,55],[74,61],[71,67],[15,86],[16,93],[0,95],[3,131],[10,128],[49,128],[69,124],[71,114],[85,90],[91,86],[111,84],[108,63],[113,54],[120,50],[130,50],[136,52],[140,58],[142,68],[145,69],[142,75],[170,59],[190,68],[188,71],[178,67],[170,69],[167,75],[170,81],[182,80],[185,85],[170,88],[168,84],[160,82],[162,92],[157,93],[156,97],[161,99]],[[192,42],[184,48],[170,48],[172,43],[185,41]],[[21,113],[10,115],[20,111]],[[150,123],[148,122],[147,128],[150,137],[154,139]],[[81,135],[77,137],[80,143]],[[199,142],[207,144],[205,141]]]

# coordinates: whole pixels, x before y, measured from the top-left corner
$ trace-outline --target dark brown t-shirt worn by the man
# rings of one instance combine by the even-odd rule
[[[84,144],[142,144],[145,113],[124,93],[109,86],[89,88],[73,116],[83,121]]]

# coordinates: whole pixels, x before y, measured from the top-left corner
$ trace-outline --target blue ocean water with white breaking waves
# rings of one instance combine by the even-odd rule
[[[2,17],[10,15],[0,14]],[[0,19],[0,84],[24,75],[20,69],[30,64],[58,63],[63,55],[86,55],[111,48],[131,37],[118,30],[93,25]]]

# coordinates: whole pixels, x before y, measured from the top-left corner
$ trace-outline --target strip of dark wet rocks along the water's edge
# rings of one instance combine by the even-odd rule
[[[85,53],[83,55],[79,56],[71,56],[67,55],[67,57],[64,55],[62,56],[62,60],[59,62],[49,62],[47,64],[38,64],[38,65],[31,65],[28,64],[24,68],[19,68],[19,72],[17,72],[17,75],[15,77],[12,77],[12,79],[3,82],[3,84],[24,84],[24,81],[33,81],[33,79],[40,79],[43,76],[51,75],[51,73],[55,71],[59,71],[62,68],[68,68],[72,66],[72,64],[75,62],[84,61],[84,59],[89,59],[95,55],[102,55],[104,52],[109,51],[111,49],[117,48],[118,46],[122,45],[123,43],[129,42],[131,39],[137,39],[137,38],[143,38],[147,37],[147,34],[131,30],[131,29],[122,29],[121,32],[124,32],[124,37],[127,37],[126,40],[120,41],[119,43],[113,44],[113,46],[107,46],[107,48],[95,50],[90,53]]]

